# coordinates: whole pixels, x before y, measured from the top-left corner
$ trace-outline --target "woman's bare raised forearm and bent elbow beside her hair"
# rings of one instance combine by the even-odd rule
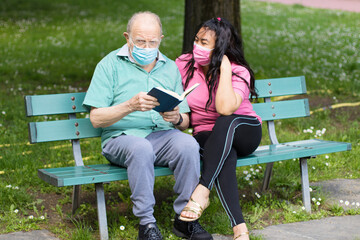
[[[232,86],[231,63],[224,55],[220,66],[220,80],[215,96],[216,111],[221,115],[231,115],[240,106],[242,98]]]

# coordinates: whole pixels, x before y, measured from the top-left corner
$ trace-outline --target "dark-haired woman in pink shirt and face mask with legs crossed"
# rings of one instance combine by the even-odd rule
[[[249,239],[239,205],[236,161],[258,147],[262,122],[249,101],[249,95],[252,98],[257,94],[241,40],[227,20],[208,20],[199,27],[193,49],[176,59],[176,64],[184,88],[200,83],[187,101],[203,160],[199,185],[179,218],[197,220],[209,205],[215,185],[234,239]]]

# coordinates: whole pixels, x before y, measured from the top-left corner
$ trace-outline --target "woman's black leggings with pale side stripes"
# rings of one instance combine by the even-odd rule
[[[261,124],[257,118],[233,114],[220,116],[212,131],[199,132],[194,136],[200,144],[203,160],[200,184],[209,190],[215,184],[232,227],[245,222],[236,180],[237,157],[254,152],[260,144],[261,135]]]

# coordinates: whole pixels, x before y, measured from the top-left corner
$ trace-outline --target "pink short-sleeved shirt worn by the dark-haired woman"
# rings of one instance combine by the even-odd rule
[[[181,55],[179,58],[176,59],[175,63],[180,70],[180,74],[182,77],[183,85],[185,85],[186,81],[186,69],[185,65],[187,60],[190,58],[190,55]],[[243,66],[231,63],[232,72],[236,73],[237,75],[243,77],[248,84],[250,85],[250,73],[249,71],[244,68]],[[195,62],[194,65],[194,76],[190,79],[188,87],[191,87],[195,83],[200,83],[193,92],[191,92],[187,97],[187,102],[191,109],[191,124],[194,127],[194,134],[197,134],[202,131],[212,131],[216,119],[220,116],[216,112],[215,107],[215,97],[213,97],[212,103],[208,108],[208,111],[205,111],[206,103],[209,99],[209,90],[206,85],[205,75],[201,69],[201,66]],[[256,117],[260,123],[262,123],[261,118],[255,113],[251,102],[249,100],[249,88],[241,78],[233,75],[232,76],[232,85],[234,91],[239,94],[242,98],[242,102],[240,107],[234,112],[234,114],[239,115],[247,115]],[[216,90],[215,90],[216,93]]]

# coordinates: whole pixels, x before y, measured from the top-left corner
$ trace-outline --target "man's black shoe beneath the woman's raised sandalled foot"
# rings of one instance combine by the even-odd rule
[[[212,240],[210,233],[205,231],[200,223],[196,221],[185,222],[179,219],[179,214],[175,215],[173,232],[176,236],[192,240]]]

